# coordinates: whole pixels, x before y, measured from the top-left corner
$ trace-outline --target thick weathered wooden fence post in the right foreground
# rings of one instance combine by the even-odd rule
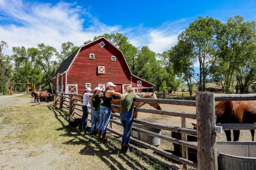
[[[196,92],[196,121],[198,169],[217,170],[214,93]]]

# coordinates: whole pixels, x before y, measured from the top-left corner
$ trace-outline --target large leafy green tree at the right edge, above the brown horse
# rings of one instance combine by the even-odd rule
[[[236,15],[229,17],[226,24],[221,24],[217,32],[216,42],[220,49],[218,55],[222,58],[219,65],[223,69],[224,88],[227,91],[232,85],[234,76],[237,78],[238,85],[239,82],[242,85],[244,81],[241,79],[244,75],[242,73],[244,69],[241,66],[244,67],[246,65],[244,62],[249,62],[244,58],[249,57],[248,53],[251,52],[248,47],[255,42],[255,25],[255,21],[244,21],[242,16]],[[247,50],[249,52],[246,52]]]

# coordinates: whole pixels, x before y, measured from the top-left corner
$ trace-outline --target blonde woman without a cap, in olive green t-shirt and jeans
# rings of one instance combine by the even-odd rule
[[[133,99],[135,97],[139,97],[135,94],[135,90],[132,87],[127,87],[120,101],[120,121],[124,127],[121,145],[122,152],[129,152],[128,144],[130,141],[130,133],[133,125]],[[143,104],[144,103],[140,102],[135,107],[140,107]]]

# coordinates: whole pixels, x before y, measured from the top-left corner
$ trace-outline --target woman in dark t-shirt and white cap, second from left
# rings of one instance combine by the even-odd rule
[[[97,134],[98,126],[100,124],[100,97],[99,94],[101,93],[102,89],[100,87],[95,87],[94,93],[92,95],[92,102],[91,102],[91,112],[92,112],[92,126],[91,131],[92,135]]]

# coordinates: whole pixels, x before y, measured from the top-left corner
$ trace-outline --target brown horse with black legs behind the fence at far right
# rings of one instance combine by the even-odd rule
[[[255,123],[256,100],[247,101],[220,101],[215,105],[216,123]],[[197,125],[194,125],[196,129]],[[199,126],[200,127],[200,126]],[[254,130],[250,130],[254,141]],[[231,131],[224,130],[227,141],[231,141]],[[234,141],[239,140],[240,130],[233,130]]]

